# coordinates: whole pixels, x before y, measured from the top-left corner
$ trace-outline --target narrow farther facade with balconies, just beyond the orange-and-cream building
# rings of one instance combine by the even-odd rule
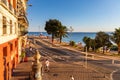
[[[22,7],[21,7],[22,6]],[[18,61],[21,61],[20,55],[22,54],[22,49],[25,48],[27,42],[27,32],[28,32],[28,20],[26,17],[27,0],[18,0]]]

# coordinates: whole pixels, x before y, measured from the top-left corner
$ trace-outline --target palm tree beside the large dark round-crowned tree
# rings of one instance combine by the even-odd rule
[[[57,34],[56,36],[60,38],[60,43],[62,42],[62,38],[63,37],[68,37],[67,34],[68,34],[68,29],[66,26],[60,26],[58,31],[57,31]]]

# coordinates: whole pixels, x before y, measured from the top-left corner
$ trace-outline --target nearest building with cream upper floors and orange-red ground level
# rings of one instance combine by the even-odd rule
[[[21,28],[19,22],[24,22],[24,18],[21,18],[22,15],[19,15],[20,9],[18,8],[18,1],[22,1],[20,4],[26,8],[26,0],[0,0],[1,80],[10,80],[12,70],[19,62],[19,48],[21,48],[21,46],[19,46],[19,37],[25,35],[19,34]],[[21,23],[21,25],[23,24],[24,23]],[[28,22],[26,24],[28,27]]]

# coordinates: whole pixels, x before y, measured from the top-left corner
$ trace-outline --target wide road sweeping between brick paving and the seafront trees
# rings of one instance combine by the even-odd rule
[[[99,73],[102,74],[102,76],[104,75],[104,77],[102,78],[104,78],[105,80],[120,80],[118,74],[120,72],[119,60],[115,60],[115,64],[112,64],[112,58],[108,58],[109,56],[99,56],[99,55],[94,55],[94,59],[88,55],[86,59],[85,54],[81,53],[80,51],[70,50],[56,46],[51,47],[51,44],[45,44],[45,42],[40,39],[35,39],[35,41],[36,41],[36,48],[40,50],[41,55],[44,57],[49,57],[54,62],[58,62],[59,64],[61,63],[72,64],[72,65],[74,64],[77,66],[86,67],[87,69],[92,69],[97,74]],[[100,80],[104,80],[104,79],[100,79]],[[88,78],[88,80],[90,80],[90,78]],[[91,80],[97,80],[97,79],[93,79],[92,77]]]

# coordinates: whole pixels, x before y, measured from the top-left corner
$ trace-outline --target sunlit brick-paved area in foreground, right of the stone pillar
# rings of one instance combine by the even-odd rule
[[[108,80],[101,73],[86,69],[82,65],[70,63],[51,63],[50,72],[44,72],[43,80]]]

